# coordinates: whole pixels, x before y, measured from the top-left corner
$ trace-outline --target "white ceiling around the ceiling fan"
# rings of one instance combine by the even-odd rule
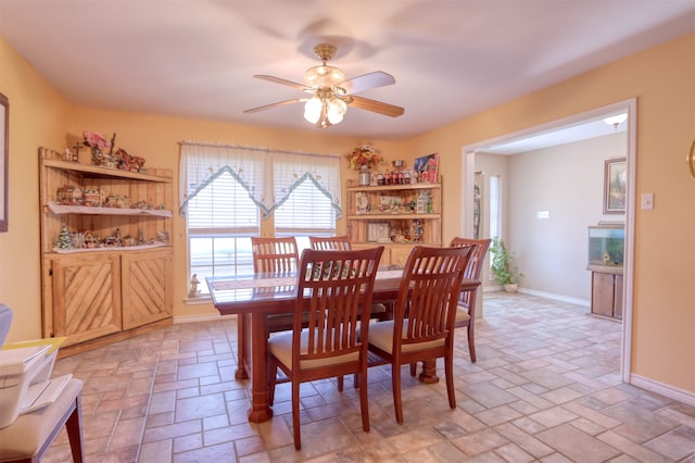
[[[302,104],[243,110],[303,96],[253,75],[301,83],[330,42],[349,77],[396,79],[361,96],[403,116],[352,108],[327,129],[362,139],[442,127],[692,30],[695,0],[0,0],[0,35],[80,107],[320,130]]]

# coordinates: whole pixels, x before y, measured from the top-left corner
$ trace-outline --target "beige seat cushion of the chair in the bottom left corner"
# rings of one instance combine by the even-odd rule
[[[71,379],[55,402],[20,415],[10,426],[0,429],[0,461],[34,456],[46,442],[67,409],[83,390],[83,381]]]

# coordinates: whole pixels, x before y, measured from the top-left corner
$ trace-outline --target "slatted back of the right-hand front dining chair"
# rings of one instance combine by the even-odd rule
[[[394,342],[445,338],[456,318],[456,301],[472,247],[416,246],[408,255],[396,301]],[[396,351],[396,346],[394,346]]]

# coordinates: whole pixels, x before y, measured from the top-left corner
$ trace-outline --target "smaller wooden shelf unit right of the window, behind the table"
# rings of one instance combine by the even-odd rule
[[[348,235],[354,248],[383,245],[382,265],[404,265],[416,245],[442,246],[442,184],[348,184]]]

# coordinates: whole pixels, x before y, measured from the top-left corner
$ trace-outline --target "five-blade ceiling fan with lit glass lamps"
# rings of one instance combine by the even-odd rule
[[[357,97],[355,95],[372,88],[395,84],[392,75],[382,71],[375,71],[358,77],[345,79],[345,73],[338,67],[327,64],[328,61],[336,55],[336,47],[328,43],[319,43],[314,47],[314,53],[323,61],[323,64],[306,70],[304,73],[304,84],[298,84],[280,77],[254,75],[254,77],[263,80],[274,82],[304,91],[312,95],[312,97],[293,98],[291,100],[266,104],[247,110],[244,113],[255,113],[285,104],[305,103],[304,118],[321,128],[328,128],[343,120],[343,115],[348,111],[348,105],[391,117],[397,117],[405,112],[401,107]]]

